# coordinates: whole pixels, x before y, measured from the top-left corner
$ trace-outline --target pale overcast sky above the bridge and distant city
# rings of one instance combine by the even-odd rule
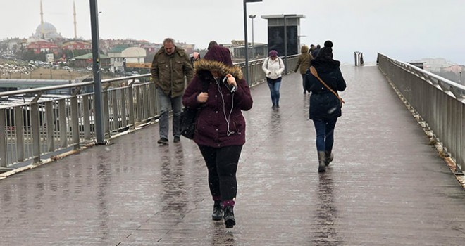
[[[30,37],[40,24],[40,0],[1,0],[0,39]],[[165,37],[206,48],[209,41],[244,39],[242,0],[98,0],[101,39]],[[63,37],[74,37],[73,0],[42,0],[44,21]],[[91,38],[89,0],[75,0],[77,36]],[[409,62],[446,58],[465,65],[465,0],[263,0],[247,4],[254,14],[254,41],[266,43],[261,15],[298,14],[301,44],[334,43],[335,59],[353,63],[354,51],[366,62],[380,52]],[[247,18],[249,41],[252,20]],[[282,54],[281,54],[282,55]]]

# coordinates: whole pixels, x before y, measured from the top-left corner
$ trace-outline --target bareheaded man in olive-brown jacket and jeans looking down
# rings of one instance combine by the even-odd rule
[[[160,105],[160,139],[157,143],[168,144],[168,112],[173,110],[173,136],[174,142],[180,141],[180,119],[182,112],[182,94],[187,83],[192,80],[194,70],[189,56],[183,49],[175,46],[171,38],[163,40],[163,47],[155,54],[151,63],[151,77],[154,79],[156,95]]]

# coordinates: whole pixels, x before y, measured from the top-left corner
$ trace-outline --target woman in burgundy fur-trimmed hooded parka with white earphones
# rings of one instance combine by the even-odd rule
[[[187,108],[201,108],[194,142],[199,145],[209,172],[211,218],[224,219],[226,228],[232,228],[236,224],[233,208],[237,163],[245,143],[242,110],[252,108],[252,96],[240,68],[233,65],[228,48],[213,46],[194,64],[194,72],[182,103]]]

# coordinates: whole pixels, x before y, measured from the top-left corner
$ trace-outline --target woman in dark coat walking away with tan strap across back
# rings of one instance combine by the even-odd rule
[[[324,47],[311,60],[310,65],[316,69],[321,80],[337,94],[337,91],[344,91],[347,85],[342,77],[340,62],[333,60],[332,47],[332,41],[325,41]],[[313,120],[316,131],[318,172],[323,172],[333,161],[334,129],[337,118],[342,115],[342,101],[310,71],[307,71],[307,79],[306,90],[311,92],[309,118]]]

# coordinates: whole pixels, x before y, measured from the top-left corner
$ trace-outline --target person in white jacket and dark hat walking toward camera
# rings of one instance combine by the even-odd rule
[[[271,50],[268,58],[263,61],[261,68],[266,74],[266,82],[268,82],[268,87],[270,87],[272,108],[279,108],[279,88],[281,86],[284,63],[278,57],[278,51]]]

